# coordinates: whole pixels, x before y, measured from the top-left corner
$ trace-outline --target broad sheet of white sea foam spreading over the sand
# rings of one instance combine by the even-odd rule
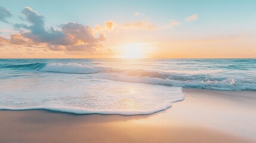
[[[0,83],[0,109],[45,109],[76,114],[152,114],[184,100],[181,88],[113,80],[52,77]],[[61,82],[62,81],[62,82]],[[10,89],[10,85],[16,88]]]

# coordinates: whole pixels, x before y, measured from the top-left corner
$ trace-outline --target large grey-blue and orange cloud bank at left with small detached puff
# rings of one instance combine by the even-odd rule
[[[30,24],[14,24],[16,30],[20,33],[10,35],[10,40],[1,38],[0,43],[10,43],[13,45],[25,46],[45,46],[53,51],[95,51],[101,48],[101,41],[104,41],[104,35],[96,33],[90,26],[80,23],[68,22],[61,24],[60,29],[53,27],[46,28],[43,15],[32,10],[30,7],[25,7],[21,12],[24,15],[24,20]],[[101,29],[111,31],[115,23],[105,21]],[[95,35],[98,35],[97,37]]]

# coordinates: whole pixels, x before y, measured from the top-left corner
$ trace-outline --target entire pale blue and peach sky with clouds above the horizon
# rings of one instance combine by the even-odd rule
[[[0,58],[256,58],[256,1],[0,0]]]

